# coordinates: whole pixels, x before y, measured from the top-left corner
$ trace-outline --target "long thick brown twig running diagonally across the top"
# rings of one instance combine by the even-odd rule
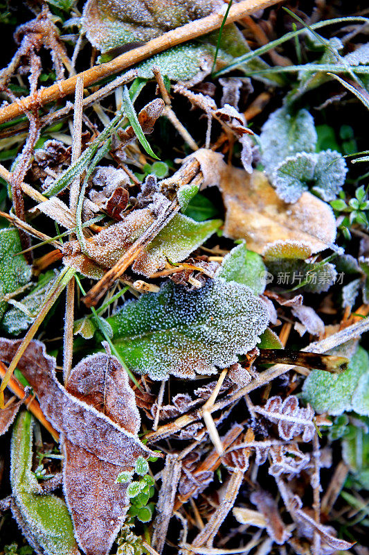
[[[278,2],[280,2],[280,0],[242,0],[239,3],[233,4],[228,12],[227,22],[235,22],[245,15],[268,8]],[[168,33],[161,35],[161,37],[150,40],[146,44],[143,44],[143,46],[139,46],[136,49],[117,56],[117,58],[114,58],[111,62],[82,71],[78,76],[82,76],[84,87],[89,87],[103,78],[118,74],[120,71],[123,71],[123,69],[127,69],[138,62],[142,62],[146,58],[150,58],[150,56],[154,56],[154,54],[167,50],[172,46],[177,46],[177,44],[182,44],[188,40],[215,31],[215,29],[218,29],[222,25],[223,18],[224,13],[218,12],[202,19],[196,19],[194,22],[190,22],[182,27],[168,31]],[[64,81],[58,81],[55,85],[38,91],[37,105],[44,106],[45,104],[61,99],[63,96],[73,94],[78,76],[72,76]],[[6,121],[10,121],[15,117],[23,115],[28,110],[31,110],[35,105],[35,101],[35,95],[30,95],[2,108],[0,110],[0,123],[6,123]]]

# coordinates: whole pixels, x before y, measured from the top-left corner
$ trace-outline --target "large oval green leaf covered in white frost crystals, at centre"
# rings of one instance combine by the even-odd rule
[[[209,280],[198,291],[166,283],[108,318],[131,370],[152,379],[212,374],[258,343],[269,315],[246,285]]]

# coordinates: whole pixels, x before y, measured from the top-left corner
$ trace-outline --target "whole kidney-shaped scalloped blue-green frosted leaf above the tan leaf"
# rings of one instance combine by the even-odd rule
[[[286,203],[296,203],[309,188],[323,200],[334,200],[343,187],[347,171],[345,160],[336,151],[298,153],[278,164],[271,182]]]

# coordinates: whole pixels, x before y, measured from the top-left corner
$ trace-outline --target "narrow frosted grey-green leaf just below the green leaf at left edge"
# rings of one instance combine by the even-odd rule
[[[54,280],[55,273],[52,271],[40,275],[33,291],[6,312],[1,323],[4,330],[12,335],[19,335],[22,331],[28,330],[29,325],[33,323],[40,307],[42,307],[44,298]]]

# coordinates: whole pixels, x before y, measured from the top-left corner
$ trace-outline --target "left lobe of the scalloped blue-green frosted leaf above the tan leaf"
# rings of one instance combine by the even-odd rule
[[[286,203],[296,203],[314,178],[315,164],[314,154],[305,152],[288,156],[278,164],[271,178],[278,196]]]

